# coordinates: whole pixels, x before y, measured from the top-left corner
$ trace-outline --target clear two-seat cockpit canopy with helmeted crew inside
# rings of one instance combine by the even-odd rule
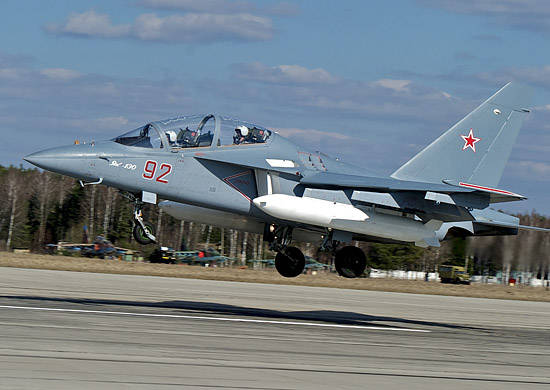
[[[113,141],[142,148],[199,148],[262,144],[271,131],[250,122],[218,115],[189,115],[151,122]]]

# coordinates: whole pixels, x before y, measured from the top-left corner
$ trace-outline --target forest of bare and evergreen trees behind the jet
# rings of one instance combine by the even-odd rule
[[[0,195],[0,250],[43,252],[49,243],[92,242],[102,235],[116,246],[139,250],[145,256],[152,251],[152,246],[141,246],[133,240],[133,205],[114,188],[83,188],[77,180],[58,174],[0,166]],[[524,225],[550,227],[550,219],[534,211],[518,217]],[[243,264],[247,259],[274,257],[257,234],[179,221],[152,205],[144,208],[144,218],[153,222],[163,246],[177,250],[214,247]],[[330,256],[317,253],[313,244],[298,245],[306,255],[330,261]],[[441,248],[429,249],[397,244],[356,245],[367,253],[369,266],[379,269],[432,271],[439,264],[464,265],[468,259],[468,268],[475,274],[515,270],[541,278],[547,275],[550,265],[550,235],[534,231],[520,231],[512,237],[454,238],[444,241]]]

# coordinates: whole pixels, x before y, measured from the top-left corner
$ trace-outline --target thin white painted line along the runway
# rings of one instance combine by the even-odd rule
[[[32,306],[11,306],[0,305],[0,309],[18,309],[18,310],[40,310],[54,311],[65,313],[85,313],[85,314],[109,314],[132,317],[157,317],[157,318],[183,318],[189,320],[205,320],[205,321],[226,321],[226,322],[247,322],[258,324],[273,324],[273,325],[296,325],[296,326],[316,326],[320,328],[345,328],[345,329],[362,329],[362,330],[388,330],[394,332],[419,332],[430,333],[426,329],[412,328],[392,328],[385,326],[368,326],[368,325],[343,325],[343,324],[321,324],[316,322],[298,322],[298,321],[272,321],[272,320],[254,320],[250,318],[226,318],[226,317],[208,317],[208,316],[190,316],[183,314],[154,314],[154,313],[131,313],[124,311],[103,311],[103,310],[84,310],[84,309],[58,309],[52,307],[32,307]]]

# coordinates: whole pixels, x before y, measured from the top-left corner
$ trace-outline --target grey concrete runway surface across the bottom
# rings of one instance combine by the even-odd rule
[[[548,389],[550,304],[0,268],[1,389]]]

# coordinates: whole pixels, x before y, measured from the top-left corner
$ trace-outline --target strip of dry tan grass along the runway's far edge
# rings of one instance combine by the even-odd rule
[[[165,276],[233,282],[285,284],[314,287],[349,288],[413,294],[450,295],[474,298],[515,299],[550,302],[550,291],[540,287],[510,287],[473,284],[448,285],[436,282],[399,279],[345,279],[336,274],[300,275],[283,278],[277,271],[238,268],[204,268],[198,266],[136,263],[80,257],[50,256],[0,252],[0,267],[34,268],[76,272],[125,275]],[[1,272],[1,271],[0,271]]]

